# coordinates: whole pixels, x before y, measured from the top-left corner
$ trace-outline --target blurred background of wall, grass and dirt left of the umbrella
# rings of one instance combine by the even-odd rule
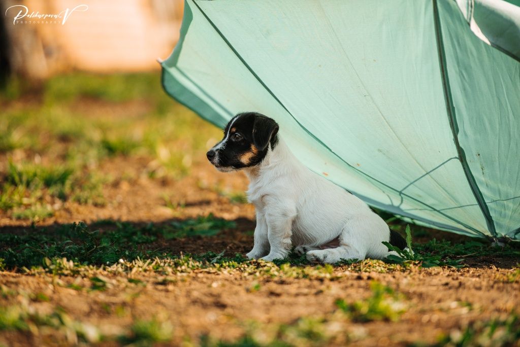
[[[182,0],[0,8],[0,226],[253,216],[206,163],[221,131],[162,90]]]

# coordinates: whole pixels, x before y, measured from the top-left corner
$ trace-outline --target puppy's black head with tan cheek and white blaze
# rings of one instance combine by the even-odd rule
[[[227,172],[258,165],[278,142],[278,124],[256,112],[239,113],[224,129],[224,138],[206,153],[217,170]]]

